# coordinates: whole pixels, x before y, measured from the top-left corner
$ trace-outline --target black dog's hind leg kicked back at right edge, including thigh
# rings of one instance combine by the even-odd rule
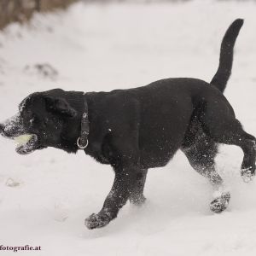
[[[243,131],[233,109],[224,101],[218,104],[207,102],[207,108],[201,115],[201,125],[207,136],[215,143],[236,145],[243,151],[241,177],[245,182],[255,175],[256,139]]]

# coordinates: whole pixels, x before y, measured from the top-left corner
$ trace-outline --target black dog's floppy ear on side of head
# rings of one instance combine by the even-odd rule
[[[46,110],[52,113],[58,113],[66,117],[73,118],[77,112],[72,108],[69,103],[61,97],[45,97]]]

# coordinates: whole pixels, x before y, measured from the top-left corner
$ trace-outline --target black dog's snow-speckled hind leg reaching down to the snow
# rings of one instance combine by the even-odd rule
[[[197,125],[197,128],[193,141],[190,141],[187,147],[183,145],[182,151],[195,171],[207,177],[212,183],[214,189],[214,200],[210,204],[212,212],[223,212],[229,205],[230,192],[224,189],[223,179],[215,170],[214,158],[217,154],[217,144],[207,137],[200,125]]]

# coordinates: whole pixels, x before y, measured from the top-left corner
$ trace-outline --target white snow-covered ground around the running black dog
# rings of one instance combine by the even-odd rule
[[[77,3],[65,13],[38,15],[29,26],[9,26],[0,33],[0,119],[38,90],[113,90],[167,77],[210,81],[221,38],[241,17],[246,22],[225,95],[256,135],[255,13],[253,2]],[[39,74],[34,66],[42,63],[58,75]],[[20,156],[3,138],[0,152],[0,245],[42,247],[24,255],[256,253],[256,183],[241,182],[240,148],[223,146],[218,154],[232,196],[226,212],[209,211],[210,185],[178,152],[165,168],[149,171],[145,207],[127,204],[102,230],[87,230],[84,218],[101,209],[113,181],[110,167],[53,148]]]

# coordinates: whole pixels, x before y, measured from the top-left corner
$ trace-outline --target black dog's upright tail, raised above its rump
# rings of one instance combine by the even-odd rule
[[[242,25],[243,20],[235,20],[228,28],[221,43],[218,70],[210,84],[213,84],[222,92],[224,92],[230,79],[234,45]]]

